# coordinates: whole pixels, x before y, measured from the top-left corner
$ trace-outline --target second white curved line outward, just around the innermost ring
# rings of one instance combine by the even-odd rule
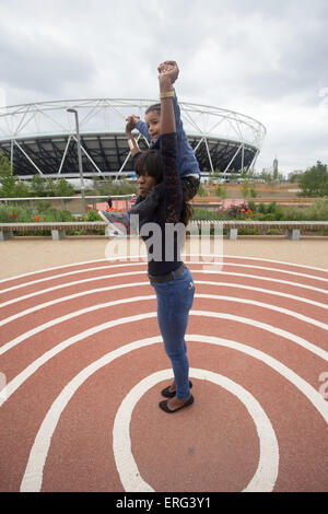
[[[153,317],[156,316],[156,313],[152,313]],[[151,317],[151,316],[149,316]],[[108,325],[108,324],[105,324]],[[103,327],[101,325],[99,327]],[[97,328],[99,328],[97,327]],[[82,332],[83,334],[83,332]],[[306,381],[301,378],[296,373],[290,370],[288,366],[282,364],[277,359],[268,355],[267,353],[248,347],[246,344],[232,341],[229,339],[221,339],[216,337],[210,336],[201,336],[201,335],[188,335],[186,337],[187,341],[196,341],[196,342],[206,342],[216,346],[223,346],[231,348],[233,350],[241,351],[246,353],[268,366],[272,367],[277,371],[280,375],[282,375],[285,379],[291,382],[306,398],[311,401],[311,404],[315,407],[315,409],[321,414],[324,420],[328,423],[328,404],[325,401],[323,396]],[[120,347],[109,353],[106,353],[101,359],[94,361],[89,366],[84,367],[78,375],[74,376],[62,389],[56,400],[52,402],[50,409],[48,410],[38,432],[35,437],[34,444],[32,446],[27,466],[24,472],[24,477],[21,483],[21,491],[28,492],[28,491],[39,491],[42,488],[42,480],[43,480],[43,470],[46,463],[48,449],[50,447],[50,442],[52,434],[56,430],[58,424],[59,418],[74,395],[74,393],[79,389],[79,387],[95,372],[97,372],[101,367],[109,364],[115,359],[129,353],[132,350],[137,350],[143,348],[149,344],[154,344],[157,342],[162,342],[161,337],[152,337],[148,339],[142,339],[139,341],[131,342],[124,347]]]

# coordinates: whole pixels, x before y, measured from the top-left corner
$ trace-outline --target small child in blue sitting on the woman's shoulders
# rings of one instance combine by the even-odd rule
[[[178,77],[179,69],[175,61],[165,61],[159,66],[160,73],[171,73],[171,82],[174,83]],[[199,188],[200,184],[200,171],[194,150],[188,142],[186,132],[183,127],[180,119],[180,108],[177,103],[176,93],[174,91],[173,106],[175,114],[176,133],[177,133],[177,166],[179,176],[181,178],[183,191],[186,200],[191,200]],[[137,128],[150,142],[150,148],[160,149],[160,119],[161,119],[161,104],[150,106],[145,112],[145,122],[141,121],[134,115],[127,118],[126,135],[128,144],[133,157],[133,163],[140,156],[141,152],[136,142],[131,131]],[[129,215],[138,214],[139,220],[149,218],[152,212],[156,209],[159,203],[164,197],[164,184],[160,183],[154,186],[145,198],[138,197],[136,205],[128,213],[116,214],[113,212],[99,211],[99,215],[103,220],[109,223],[121,223],[125,225],[127,231],[129,230]],[[117,227],[116,227],[117,229]]]

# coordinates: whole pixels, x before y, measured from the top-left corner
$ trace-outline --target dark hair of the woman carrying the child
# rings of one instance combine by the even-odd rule
[[[159,150],[150,149],[145,150],[139,156],[137,164],[136,164],[136,174],[137,176],[150,175],[154,177],[156,184],[163,180],[163,172],[162,172],[162,162],[161,162],[161,153]],[[190,203],[188,203],[187,195],[184,192],[183,199],[183,211],[180,215],[180,222],[187,226],[189,221],[192,218],[192,208]]]

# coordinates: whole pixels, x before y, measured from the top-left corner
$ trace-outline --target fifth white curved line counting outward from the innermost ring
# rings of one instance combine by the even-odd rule
[[[196,284],[203,284],[203,285],[220,285],[220,287],[225,287],[225,288],[238,288],[238,289],[243,289],[243,290],[245,289],[247,291],[255,291],[255,292],[266,293],[266,294],[270,294],[270,295],[282,296],[282,297],[289,299],[289,300],[296,300],[297,302],[303,302],[303,303],[306,303],[308,305],[314,305],[316,307],[328,309],[328,304],[315,302],[314,300],[304,299],[302,296],[295,296],[294,294],[281,293],[281,292],[273,291],[273,290],[270,290],[270,289],[253,288],[250,285],[229,283],[229,282],[209,282],[209,281],[206,281],[206,280],[195,280],[194,282]],[[59,303],[67,302],[69,300],[74,300],[74,299],[78,299],[78,297],[81,297],[81,296],[87,296],[89,294],[104,293],[105,291],[113,291],[113,290],[117,290],[117,289],[121,290],[121,289],[125,289],[125,288],[133,288],[133,287],[140,288],[142,285],[149,285],[149,281],[147,280],[144,282],[129,282],[129,283],[122,283],[122,284],[117,284],[117,285],[108,285],[107,288],[91,289],[91,290],[86,290],[86,291],[81,291],[80,293],[69,294],[68,296],[62,296],[60,299],[54,299],[54,300],[50,300],[49,302],[37,304],[37,305],[34,305],[33,307],[26,308],[25,311],[21,311],[20,313],[13,314],[12,316],[9,316],[4,319],[0,319],[0,327],[2,327],[3,325],[7,325],[8,323],[15,322],[20,317],[24,317],[27,314],[33,314],[33,313],[42,309],[42,308],[50,307],[52,305],[57,305]],[[230,297],[234,297],[234,296],[230,296]],[[246,302],[246,300],[245,300],[245,302]],[[249,300],[249,302],[250,302],[250,300]],[[267,305],[271,305],[271,304],[267,304]],[[295,311],[293,311],[293,312],[295,312]],[[309,323],[317,323],[314,318],[308,318],[308,319],[313,319],[313,322],[309,322]],[[0,354],[1,354],[1,350],[0,350]]]

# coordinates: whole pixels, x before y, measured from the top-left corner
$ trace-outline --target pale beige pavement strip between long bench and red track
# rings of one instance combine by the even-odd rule
[[[143,253],[143,244],[140,252]],[[0,243],[0,280],[21,273],[71,262],[110,257],[104,236],[71,236],[61,241],[50,237],[15,237]],[[290,241],[284,236],[223,237],[223,255],[261,257],[328,269],[328,237],[308,236]]]

